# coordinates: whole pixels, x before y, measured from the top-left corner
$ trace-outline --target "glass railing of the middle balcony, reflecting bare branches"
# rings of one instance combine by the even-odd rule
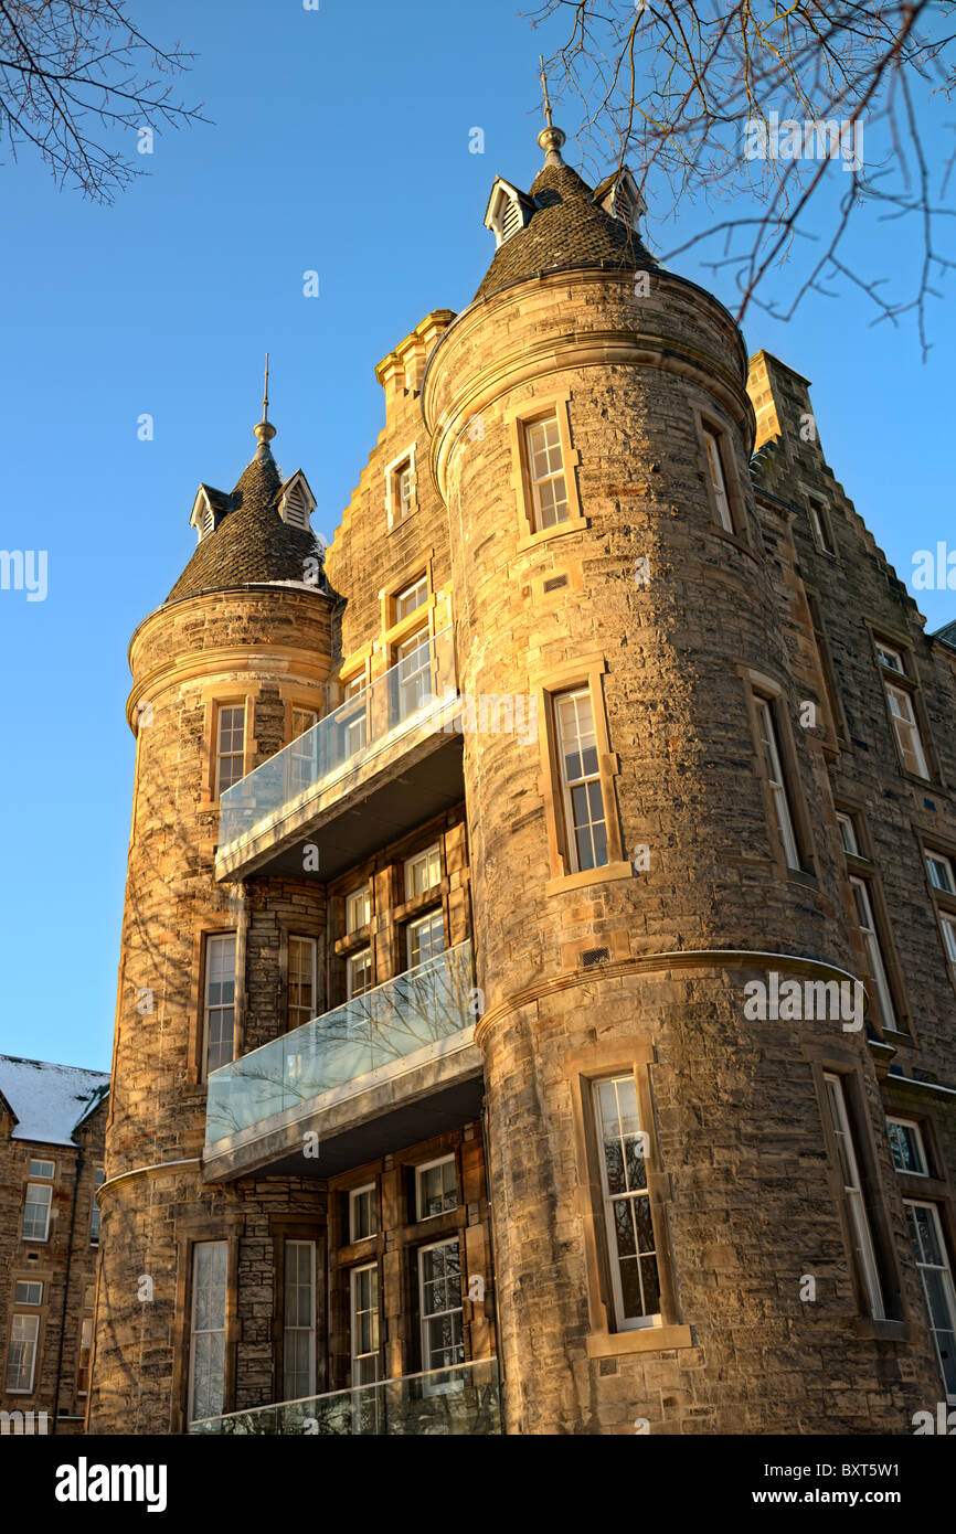
[[[207,1155],[219,1141],[288,1109],[304,1115],[322,1092],[470,1028],[471,983],[471,943],[463,942],[213,1071]]]

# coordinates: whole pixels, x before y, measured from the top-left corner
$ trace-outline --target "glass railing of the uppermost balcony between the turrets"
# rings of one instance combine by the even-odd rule
[[[408,641],[397,666],[327,713],[227,788],[219,802],[218,856],[279,828],[336,778],[353,773],[404,735],[440,716],[456,698],[454,630]]]

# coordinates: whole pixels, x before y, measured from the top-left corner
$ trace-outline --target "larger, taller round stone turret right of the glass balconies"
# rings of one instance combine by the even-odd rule
[[[479,721],[465,784],[506,1430],[666,1431],[680,1408],[709,1433],[793,1431],[795,1413],[827,1431],[819,1348],[844,1350],[852,1390],[879,1365],[846,1351],[847,1295],[822,1278],[839,1213],[813,1062],[865,1042],[747,1011],[770,971],[852,971],[749,479],[747,354],[723,305],[595,198],[566,166],[539,175],[424,382]],[[534,730],[482,732],[505,698]],[[611,1247],[609,1083],[646,1137],[641,1198],[614,1204],[637,1226]]]

